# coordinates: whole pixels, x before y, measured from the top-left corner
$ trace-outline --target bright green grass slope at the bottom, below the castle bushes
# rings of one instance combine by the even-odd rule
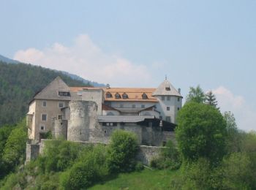
[[[170,189],[170,180],[178,171],[148,170],[119,174],[117,178],[97,184],[91,190]]]

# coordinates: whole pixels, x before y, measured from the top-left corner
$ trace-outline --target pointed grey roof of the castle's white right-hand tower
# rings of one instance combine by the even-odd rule
[[[172,86],[169,80],[164,80],[156,91],[152,93],[152,96],[181,96],[180,93]]]

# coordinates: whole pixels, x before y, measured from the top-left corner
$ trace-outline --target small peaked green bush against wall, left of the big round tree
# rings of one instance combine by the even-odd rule
[[[177,170],[181,166],[178,150],[171,140],[167,141],[166,148],[162,148],[159,157],[151,160],[150,165],[161,170]]]

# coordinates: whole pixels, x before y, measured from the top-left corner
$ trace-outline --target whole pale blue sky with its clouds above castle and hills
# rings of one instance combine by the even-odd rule
[[[256,1],[5,1],[0,54],[110,86],[156,87],[165,75],[217,94],[256,129]]]

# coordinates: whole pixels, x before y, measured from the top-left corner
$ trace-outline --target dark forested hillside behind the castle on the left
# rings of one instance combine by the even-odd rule
[[[26,115],[34,94],[57,76],[69,86],[89,86],[88,83],[41,66],[0,61],[0,126],[20,121]]]

